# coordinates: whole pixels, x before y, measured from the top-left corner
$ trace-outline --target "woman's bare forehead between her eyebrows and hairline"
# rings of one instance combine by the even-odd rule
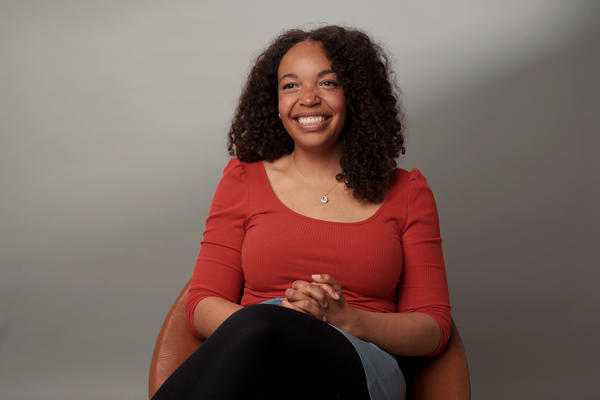
[[[279,63],[278,76],[301,72],[320,72],[331,69],[331,61],[325,55],[321,42],[306,40],[290,48]]]

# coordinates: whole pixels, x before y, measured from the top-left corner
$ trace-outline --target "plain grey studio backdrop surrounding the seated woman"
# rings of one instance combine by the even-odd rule
[[[474,398],[597,398],[599,4],[2,1],[0,397],[146,396],[251,60],[327,22],[393,56]]]

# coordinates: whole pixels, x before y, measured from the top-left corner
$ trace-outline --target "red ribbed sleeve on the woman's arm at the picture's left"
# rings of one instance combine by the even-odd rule
[[[240,260],[247,206],[244,165],[234,158],[217,185],[187,296],[186,317],[196,336],[194,309],[200,300],[221,297],[239,302],[244,282]]]

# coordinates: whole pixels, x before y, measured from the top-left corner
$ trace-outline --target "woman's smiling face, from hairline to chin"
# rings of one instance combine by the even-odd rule
[[[339,145],[346,100],[322,44],[293,46],[281,59],[277,79],[281,122],[296,147],[326,151]]]

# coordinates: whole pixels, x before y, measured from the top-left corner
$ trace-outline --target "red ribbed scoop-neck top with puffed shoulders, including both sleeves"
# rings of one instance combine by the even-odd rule
[[[331,274],[353,307],[419,311],[450,336],[448,285],[433,193],[418,169],[396,169],[383,204],[359,222],[298,214],[275,195],[262,162],[229,161],[217,186],[192,276],[186,313],[222,297],[243,306],[276,297],[295,280]]]

